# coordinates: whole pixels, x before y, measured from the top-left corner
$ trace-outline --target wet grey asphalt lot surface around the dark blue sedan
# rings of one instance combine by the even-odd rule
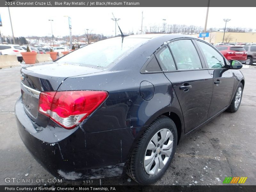
[[[180,141],[171,166],[155,185],[222,185],[225,177],[248,177],[256,185],[256,68],[242,68],[243,99],[236,113],[223,112]],[[53,179],[30,155],[17,132],[14,104],[20,96],[20,67],[0,69],[0,185],[4,178]],[[221,95],[220,95],[221,99]],[[33,185],[136,185],[128,176]]]

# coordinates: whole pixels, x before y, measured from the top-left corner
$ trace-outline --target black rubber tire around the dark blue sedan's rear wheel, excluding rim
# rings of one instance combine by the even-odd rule
[[[150,175],[144,169],[144,155],[152,137],[161,129],[169,129],[172,132],[172,152],[167,163],[164,165],[164,168],[162,168],[156,174]],[[137,145],[135,146],[128,164],[127,174],[133,180],[143,185],[148,185],[159,180],[164,175],[172,161],[177,147],[177,140],[178,134],[174,122],[167,116],[159,116],[156,118],[156,120],[143,132]]]

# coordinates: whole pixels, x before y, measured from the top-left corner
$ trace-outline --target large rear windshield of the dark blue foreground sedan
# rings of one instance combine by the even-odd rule
[[[65,55],[57,62],[75,64],[87,67],[108,68],[117,58],[124,53],[148,41],[148,38],[110,38],[77,49]]]

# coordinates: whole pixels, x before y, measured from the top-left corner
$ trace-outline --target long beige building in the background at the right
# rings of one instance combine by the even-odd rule
[[[209,43],[222,43],[224,32],[211,32],[209,37],[205,37],[205,41]],[[198,37],[199,34],[192,36]],[[203,38],[202,38],[203,39]],[[256,32],[225,32],[224,43],[256,43]]]

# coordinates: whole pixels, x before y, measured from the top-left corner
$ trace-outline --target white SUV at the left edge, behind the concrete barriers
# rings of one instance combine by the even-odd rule
[[[25,52],[20,45],[0,44],[2,55],[16,55],[18,61],[22,62],[23,58],[20,52]]]

